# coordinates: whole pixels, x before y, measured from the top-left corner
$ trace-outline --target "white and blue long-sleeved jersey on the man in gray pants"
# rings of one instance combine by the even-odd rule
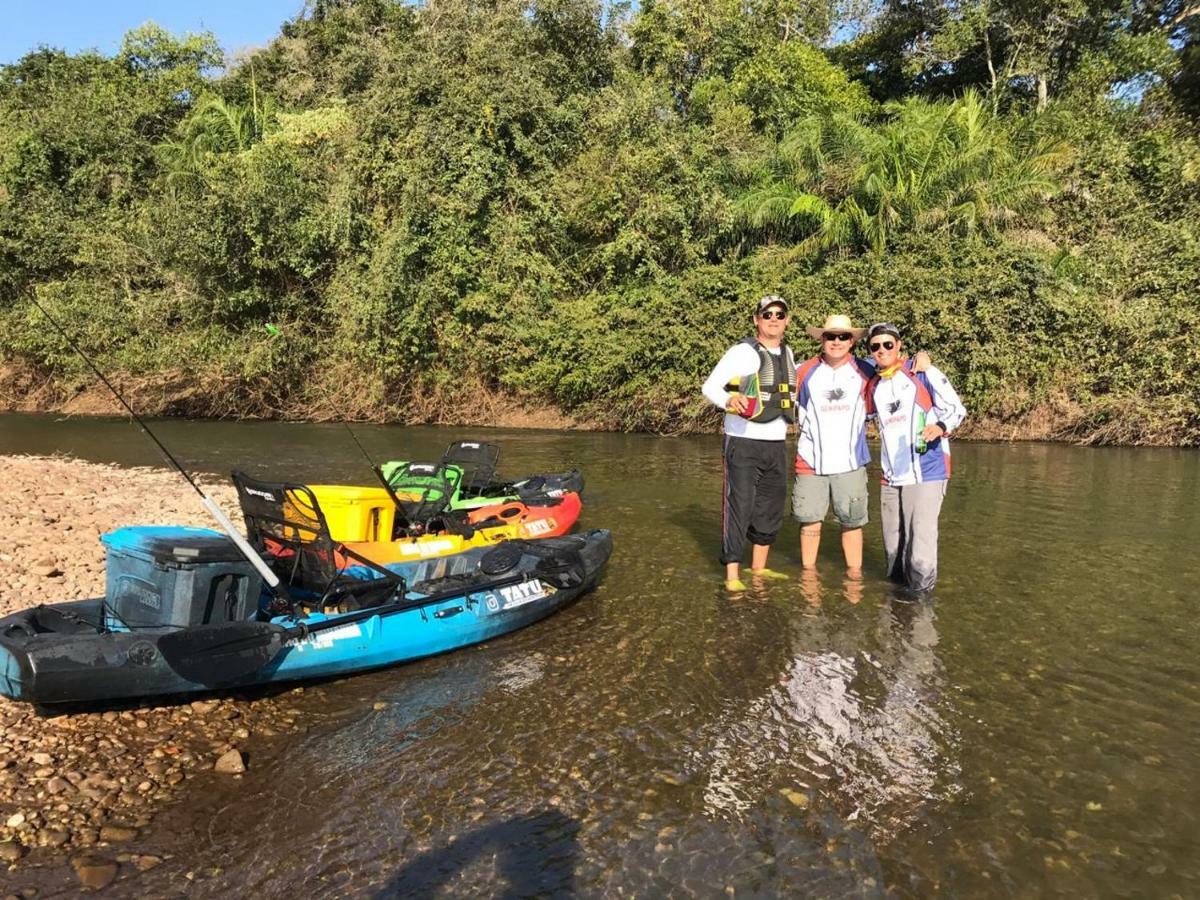
[[[950,476],[950,440],[967,410],[950,380],[935,366],[912,371],[912,360],[890,378],[875,376],[868,385],[868,412],[880,426],[880,463],[888,485],[916,485],[944,481]],[[947,434],[930,440],[925,452],[917,452],[917,438],[925,425],[941,422]]]

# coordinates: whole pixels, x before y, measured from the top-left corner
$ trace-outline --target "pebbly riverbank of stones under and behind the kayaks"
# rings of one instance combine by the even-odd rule
[[[236,510],[232,487],[205,490]],[[100,535],[126,524],[209,522],[172,472],[0,457],[0,614],[103,594]],[[190,779],[214,769],[236,778],[257,739],[301,727],[296,692],[88,712],[0,698],[0,866],[12,875],[66,857],[82,886],[101,888],[158,865],[122,848],[152,830]]]

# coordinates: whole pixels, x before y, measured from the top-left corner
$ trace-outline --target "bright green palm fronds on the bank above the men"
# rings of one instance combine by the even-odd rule
[[[972,91],[892,113],[878,130],[847,116],[803,122],[780,145],[775,174],[739,204],[746,224],[799,228],[802,253],[881,254],[906,232],[997,232],[1060,187],[1066,148],[1022,140]]]

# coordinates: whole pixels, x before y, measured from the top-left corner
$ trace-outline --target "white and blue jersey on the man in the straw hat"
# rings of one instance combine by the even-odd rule
[[[870,462],[866,384],[875,366],[850,358],[836,368],[820,356],[797,370],[796,474],[838,475]]]

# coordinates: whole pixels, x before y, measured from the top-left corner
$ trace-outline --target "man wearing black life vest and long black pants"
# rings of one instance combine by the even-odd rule
[[[752,575],[786,577],[767,568],[767,554],[784,522],[787,426],[796,420],[796,358],[784,343],[787,314],[784,298],[760,299],[754,336],[726,350],[702,389],[725,410],[721,563],[730,590],[745,589],[746,541]]]

